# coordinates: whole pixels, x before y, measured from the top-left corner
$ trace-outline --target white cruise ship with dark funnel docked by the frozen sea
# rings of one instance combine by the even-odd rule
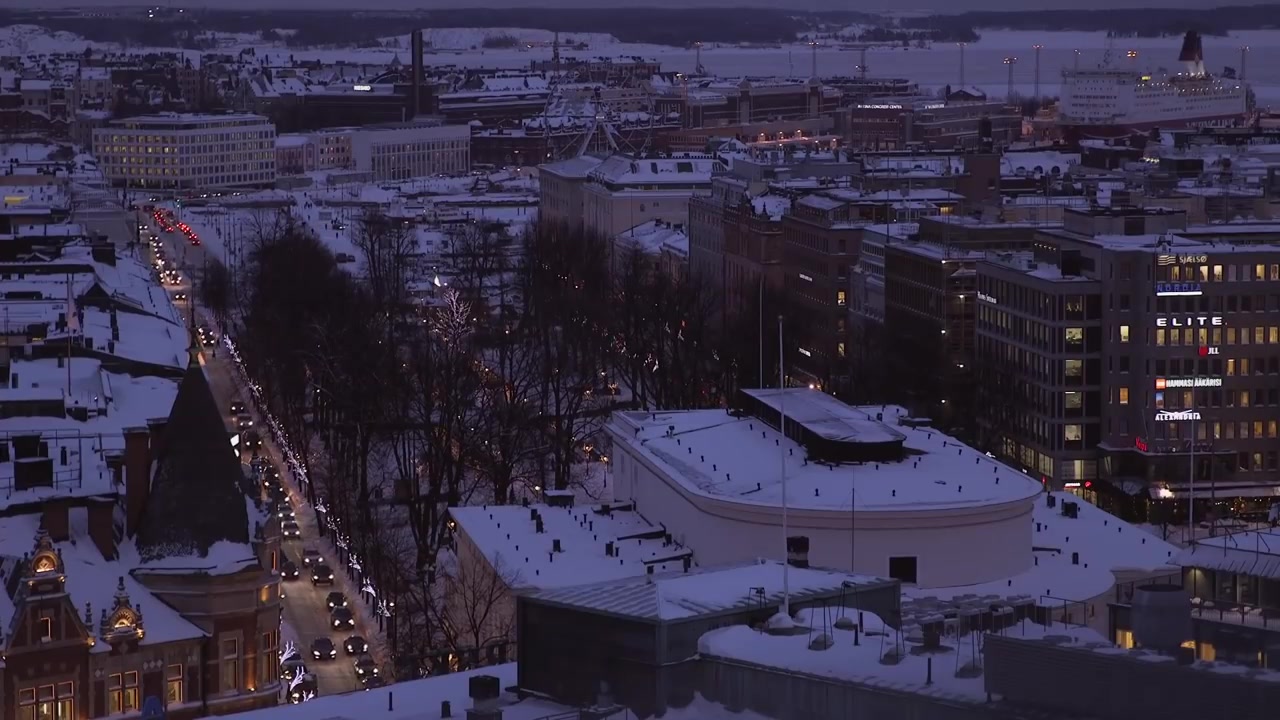
[[[1139,72],[1110,67],[1110,61],[1094,69],[1062,70],[1057,114],[1062,135],[1068,140],[1114,138],[1151,128],[1231,127],[1244,120],[1244,83],[1204,72],[1204,51],[1194,31],[1183,40],[1179,60],[1185,72]]]

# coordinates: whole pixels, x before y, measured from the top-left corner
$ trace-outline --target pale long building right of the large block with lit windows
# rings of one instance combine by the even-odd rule
[[[375,181],[397,181],[471,169],[471,128],[404,124],[362,128],[351,133],[356,172]]]

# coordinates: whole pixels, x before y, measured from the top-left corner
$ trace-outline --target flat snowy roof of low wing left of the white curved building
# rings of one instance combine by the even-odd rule
[[[512,588],[559,588],[682,568],[692,553],[632,510],[515,505],[452,507],[449,515]],[[539,534],[536,512],[541,518]],[[559,552],[553,550],[559,543]],[[607,553],[607,544],[614,555]]]

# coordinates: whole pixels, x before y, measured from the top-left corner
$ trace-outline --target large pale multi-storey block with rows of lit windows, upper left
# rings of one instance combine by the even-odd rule
[[[115,186],[156,190],[264,187],[275,182],[275,126],[261,115],[164,113],[93,131]]]

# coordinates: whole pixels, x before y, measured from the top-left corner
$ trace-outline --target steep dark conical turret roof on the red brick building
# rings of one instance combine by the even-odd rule
[[[220,541],[248,543],[244,473],[200,363],[178,387],[151,477],[137,547],[143,561],[209,555]]]

